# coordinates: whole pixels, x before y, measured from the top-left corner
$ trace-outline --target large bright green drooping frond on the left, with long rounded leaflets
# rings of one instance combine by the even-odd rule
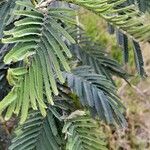
[[[72,22],[62,14],[68,12],[66,9],[51,8],[43,12],[28,3],[17,2],[17,5],[28,10],[14,11],[15,15],[23,18],[15,22],[12,30],[5,31],[7,37],[2,41],[15,44],[4,62],[10,64],[20,61],[20,67],[8,70],[7,79],[13,88],[0,102],[0,110],[2,112],[8,107],[6,119],[12,113],[19,114],[21,110],[21,122],[24,122],[30,106],[34,110],[39,108],[42,115],[46,116],[44,96],[53,104],[52,93],[58,95],[56,78],[64,83],[59,63],[66,71],[70,70],[66,55],[70,58],[71,53],[62,37],[70,42],[74,40],[56,21]]]

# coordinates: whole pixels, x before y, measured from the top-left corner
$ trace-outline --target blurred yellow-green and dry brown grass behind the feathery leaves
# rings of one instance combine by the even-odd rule
[[[107,45],[107,51],[114,59],[123,63],[122,48],[117,44],[115,36],[107,32],[107,23],[98,16],[80,9],[79,20],[84,25],[86,33],[92,37],[94,41]],[[113,40],[113,42],[112,42]],[[149,74],[149,45],[142,46],[146,73]],[[131,74],[136,74],[134,65],[134,54],[132,47],[129,47],[129,62],[125,67]],[[108,147],[111,150],[148,150],[150,148],[149,136],[149,77],[141,80],[138,75],[130,77],[132,87],[119,78],[115,78],[118,87],[118,95],[122,99],[122,103],[126,107],[126,119],[128,127],[125,129],[114,130],[107,125],[101,124],[103,132],[107,136]],[[108,138],[109,137],[109,138]]]

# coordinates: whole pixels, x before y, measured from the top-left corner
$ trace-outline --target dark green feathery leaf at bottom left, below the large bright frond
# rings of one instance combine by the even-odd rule
[[[48,106],[47,116],[31,110],[28,119],[19,125],[12,136],[9,150],[62,150],[66,144],[62,128],[70,112],[75,111],[74,103],[67,96],[54,97],[55,105]]]

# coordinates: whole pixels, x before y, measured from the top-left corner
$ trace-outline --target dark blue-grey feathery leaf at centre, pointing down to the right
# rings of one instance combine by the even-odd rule
[[[119,102],[115,87],[105,76],[96,74],[88,66],[76,68],[73,73],[65,73],[68,87],[75,92],[81,104],[88,108],[94,116],[108,124],[118,123],[126,126],[123,117],[124,107]]]

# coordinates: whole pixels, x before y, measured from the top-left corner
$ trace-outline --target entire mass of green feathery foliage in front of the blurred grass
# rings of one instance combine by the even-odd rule
[[[97,43],[86,34],[70,3],[103,18],[124,63],[131,49],[146,77],[139,42],[149,42],[149,1],[2,0],[0,112],[6,121],[17,119],[10,150],[105,150],[104,125],[127,127],[114,76],[130,75],[109,56],[107,37]]]

